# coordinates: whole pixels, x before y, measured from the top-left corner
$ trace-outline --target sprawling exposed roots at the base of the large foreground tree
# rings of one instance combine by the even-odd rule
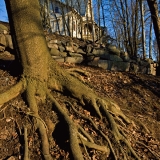
[[[53,70],[53,68],[51,68]],[[84,83],[80,82],[73,76],[68,73],[64,73],[63,71],[59,70],[59,68],[54,68],[54,71],[51,72],[49,75],[48,83],[46,84],[43,81],[39,81],[36,78],[25,77],[22,78],[15,86],[13,86],[8,91],[0,94],[0,105],[8,102],[9,100],[15,98],[20,93],[26,93],[26,98],[29,106],[29,112],[27,115],[32,117],[34,121],[34,125],[36,129],[38,129],[41,140],[42,140],[42,154],[45,160],[51,160],[52,157],[49,152],[49,142],[47,137],[47,126],[43,119],[39,116],[39,109],[40,104],[45,102],[46,97],[48,97],[54,106],[54,109],[59,113],[60,116],[64,119],[64,121],[68,125],[69,131],[69,143],[70,149],[72,152],[73,159],[75,160],[83,160],[83,153],[80,148],[80,144],[84,147],[86,154],[89,157],[87,148],[93,148],[102,152],[105,152],[107,156],[112,154],[115,160],[119,157],[119,151],[123,155],[123,159],[128,159],[129,153],[132,154],[136,159],[140,160],[137,153],[132,148],[130,142],[127,140],[125,133],[123,132],[123,127],[126,127],[127,124],[132,123],[129,118],[127,118],[118,105],[112,102],[110,99],[103,99],[97,96],[94,91]],[[71,70],[75,71],[75,70]],[[77,72],[77,70],[76,70]],[[82,71],[78,70],[78,73],[82,74]],[[81,118],[87,120],[93,127],[93,129],[99,133],[104,140],[106,140],[106,146],[101,146],[95,144],[92,136],[85,131],[80,124],[77,124],[69,117],[69,114],[66,108],[63,108],[52,96],[51,90],[54,89],[55,91],[66,92],[69,93],[72,97],[76,98],[84,107],[87,106],[87,109],[91,107],[95,110],[95,113],[99,117],[99,120],[102,121],[103,117],[105,116],[110,124],[110,135],[114,139],[114,142],[117,144],[117,148],[114,148],[114,144],[112,144],[113,139],[109,138],[92,120],[91,117],[86,116],[79,111],[77,111],[70,102],[67,102],[72,110]],[[116,123],[116,121],[120,123],[120,126]],[[142,124],[141,124],[142,125]],[[145,127],[144,127],[145,128]],[[148,130],[146,130],[148,133]],[[28,142],[27,142],[27,128],[24,129],[24,141],[25,141],[25,153],[24,153],[24,160],[29,159],[29,149],[28,149]],[[128,148],[127,153],[124,151],[123,145]],[[142,144],[141,144],[142,145]],[[118,150],[118,152],[117,152]],[[152,151],[150,151],[156,158]]]

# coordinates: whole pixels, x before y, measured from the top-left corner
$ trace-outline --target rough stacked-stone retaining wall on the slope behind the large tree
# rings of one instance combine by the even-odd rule
[[[93,44],[91,41],[71,39],[66,36],[49,35],[46,42],[51,56],[58,62],[85,63],[111,71],[140,72],[156,75],[156,63],[151,59],[131,59],[127,52],[120,51],[111,44]],[[0,24],[0,59],[13,59],[13,45],[7,28]]]

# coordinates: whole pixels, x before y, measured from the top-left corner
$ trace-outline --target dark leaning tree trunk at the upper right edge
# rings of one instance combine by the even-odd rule
[[[158,14],[158,3],[157,3],[157,0],[147,0],[147,2],[151,12],[153,27],[156,35],[157,44],[158,44],[159,67],[157,68],[157,75],[160,75],[160,18]]]

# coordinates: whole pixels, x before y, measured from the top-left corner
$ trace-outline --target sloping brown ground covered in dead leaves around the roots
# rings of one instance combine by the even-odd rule
[[[10,69],[12,61],[0,62],[0,93],[16,84],[19,77],[15,76]],[[74,64],[60,64],[62,68],[79,68],[88,72],[81,75],[83,83],[94,89],[98,95],[109,97],[114,100],[121,110],[138,123],[140,127],[130,127],[124,124],[123,130],[131,142],[139,157],[143,160],[160,159],[160,77],[130,72],[111,72],[96,67]],[[105,122],[100,122],[94,115],[82,110],[76,99],[61,93],[53,93],[56,100],[63,106],[69,101],[79,106],[79,112],[91,116],[94,122],[101,127],[104,133],[108,133]],[[30,127],[28,131],[28,145],[31,160],[41,160],[41,144],[38,132],[26,114],[27,105],[23,95],[0,106],[0,160],[20,160],[24,154],[24,127]],[[103,139],[87,123],[68,109],[70,117],[80,123],[85,131],[88,131],[98,144],[104,144]],[[68,136],[65,126],[60,122],[57,113],[52,110],[50,101],[47,105],[39,108],[39,114],[45,120],[48,129],[55,128],[50,133],[50,152],[55,159],[69,160]],[[123,123],[123,122],[122,122]],[[150,133],[147,133],[146,130]],[[116,145],[114,146],[116,147]],[[85,157],[84,151],[84,157]],[[107,156],[101,151],[88,149],[88,158],[92,160],[105,160]],[[110,158],[111,159],[111,158]],[[122,159],[118,157],[118,159]],[[134,158],[129,158],[134,159]],[[123,159],[122,159],[123,160]]]

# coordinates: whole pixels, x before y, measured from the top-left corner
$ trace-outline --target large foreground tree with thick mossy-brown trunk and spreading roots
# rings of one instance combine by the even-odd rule
[[[21,79],[15,86],[0,94],[0,105],[17,97],[19,94],[25,93],[24,95],[29,107],[28,114],[32,117],[34,126],[41,135],[44,159],[52,159],[49,151],[45,121],[39,116],[39,108],[42,104],[45,105],[47,99],[51,100],[53,108],[58,112],[58,115],[63,117],[68,125],[69,143],[72,156],[75,160],[84,159],[79,146],[80,143],[83,143],[82,146],[101,148],[108,155],[112,154],[114,159],[118,159],[117,153],[119,151],[122,153],[124,159],[126,159],[129,152],[123,151],[122,146],[125,144],[131,155],[136,159],[140,159],[115,121],[115,118],[118,118],[119,120],[123,119],[123,124],[131,124],[130,119],[122,113],[119,106],[109,98],[99,97],[92,89],[78,80],[78,78],[73,77],[70,72],[61,69],[51,58],[43,33],[38,0],[5,0],[5,2],[14,47],[17,51],[16,57],[21,62],[23,72]],[[87,138],[83,139],[82,137],[84,136],[80,138],[80,127],[70,119],[68,112],[53,97],[53,90],[67,93],[68,96],[76,98],[83,107],[85,107],[85,104],[90,105],[99,120],[104,116],[107,117],[111,127],[110,129],[112,130],[114,143],[116,142],[118,144],[117,148],[112,147],[112,141],[96,127],[91,118],[88,118],[88,120],[93,124],[95,130],[97,132],[99,131],[99,134],[107,141],[108,145],[96,145],[89,138],[90,136],[87,133],[85,134],[85,131],[83,133],[84,136],[88,135]],[[83,118],[83,115],[81,117]],[[86,141],[86,139],[88,140]],[[27,144],[25,145],[24,159],[29,159]]]

